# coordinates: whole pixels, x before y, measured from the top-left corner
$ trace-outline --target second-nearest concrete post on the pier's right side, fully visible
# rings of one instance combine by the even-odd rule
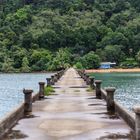
[[[106,88],[107,92],[107,111],[109,113],[115,113],[115,104],[114,104],[114,92],[116,91],[115,87]]]

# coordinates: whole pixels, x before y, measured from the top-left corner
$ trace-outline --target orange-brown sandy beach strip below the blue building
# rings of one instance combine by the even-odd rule
[[[110,73],[110,72],[140,72],[140,68],[134,69],[90,69],[85,70],[86,73]]]

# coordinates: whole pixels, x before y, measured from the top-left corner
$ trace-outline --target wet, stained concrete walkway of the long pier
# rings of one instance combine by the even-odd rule
[[[56,83],[55,94],[33,103],[4,140],[133,140],[131,129],[106,112],[106,103],[87,92],[85,82],[69,69]],[[72,88],[71,88],[72,87]]]

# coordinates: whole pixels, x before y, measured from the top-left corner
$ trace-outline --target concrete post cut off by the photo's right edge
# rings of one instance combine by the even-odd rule
[[[133,108],[136,118],[135,118],[135,137],[136,140],[140,140],[140,106],[135,106]]]

